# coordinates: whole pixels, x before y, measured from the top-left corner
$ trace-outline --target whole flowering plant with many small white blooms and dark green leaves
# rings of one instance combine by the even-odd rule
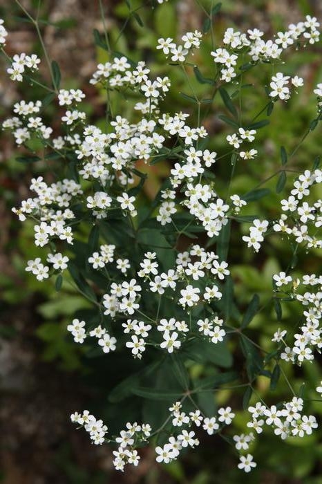
[[[209,19],[219,8],[218,4],[211,10]],[[25,13],[38,26],[37,19]],[[229,442],[240,456],[238,468],[249,472],[256,467],[249,451],[256,450],[256,440],[269,431],[267,427],[283,440],[310,435],[317,427],[316,418],[307,414],[303,394],[294,391],[283,365],[301,366],[321,352],[322,276],[299,277],[295,268],[297,253],[322,248],[322,201],[316,197],[322,171],[319,157],[311,169],[288,169],[287,163],[318,127],[322,84],[314,89],[316,115],[299,145],[290,153],[281,147],[282,168],[259,185],[279,175],[276,192],[280,194],[286,174],[292,173],[294,183],[281,199],[279,213],[249,215],[252,202],[268,196],[269,190],[249,187],[247,193],[231,194],[231,180],[238,164],[243,163],[247,170],[251,163],[261,162],[258,130],[269,123],[276,103],[287,102],[305,84],[283,59],[286,50],[319,41],[319,22],[307,15],[273,39],[265,39],[257,28],[247,32],[228,28],[222,45],[209,50],[209,64],[214,66],[211,78],[204,77],[203,66],[193,62],[209,28],[206,22],[203,34],[195,30],[180,41],[158,40],[155,49],[171,64],[163,77],[151,73],[143,60],[133,62],[115,53],[108,32],[104,39],[95,32],[96,43],[108,53],[108,62],[99,64],[90,80],[106,95],[106,120],[104,128],[99,128],[79,108],[85,98],[82,90],[60,89],[58,64],[50,63],[46,50],[51,86],[37,77],[37,56],[21,53],[10,58],[6,54],[8,32],[0,22],[1,50],[10,63],[10,78],[49,91],[44,100],[17,102],[15,115],[3,122],[3,129],[12,131],[17,145],[26,150],[35,140],[43,147],[41,156],[23,154],[21,161],[57,159],[60,163],[58,180],[32,178],[30,192],[34,195],[12,209],[22,222],[27,218],[34,221],[35,245],[42,250],[40,257],[27,261],[26,270],[38,281],[55,278],[57,290],[63,283],[72,284],[89,301],[86,316],[82,311],[75,318],[71,315],[68,332],[89,352],[94,346],[95,355],[108,353],[114,372],[126,362],[109,402],[133,400],[133,395],[143,402],[133,411],[136,421],[126,422],[122,413],[124,424],[118,434],[112,421],[105,425],[88,410],[71,416],[94,444],[115,444],[114,465],[120,470],[126,464],[138,465],[138,449],[149,441],[155,445],[156,460],[169,463],[188,447],[199,445],[202,433],[207,433]],[[41,35],[39,28],[37,32]],[[266,64],[271,68],[267,104],[245,122],[243,83],[248,75],[253,82],[252,72],[261,72]],[[176,68],[191,90],[191,95],[182,93],[182,100],[191,103],[189,112],[183,106],[164,111]],[[191,68],[196,80],[206,86],[208,97],[200,97],[193,88]],[[238,106],[231,88],[237,89]],[[133,112],[126,117],[120,102],[125,95],[133,101]],[[64,111],[61,132],[55,136],[42,118],[50,102],[57,102]],[[222,155],[214,151],[216,137],[211,140],[202,124],[202,115],[213,102],[222,102],[228,115],[220,119],[231,129],[225,135],[227,151]],[[256,121],[263,113],[266,117]],[[227,165],[227,159],[230,181],[220,186],[217,169]],[[149,183],[149,167],[158,163],[164,164],[167,176],[155,198],[146,203],[142,190]],[[140,171],[144,164],[146,169]],[[243,210],[247,212],[243,214]],[[245,223],[249,224],[248,235],[238,232],[238,225]],[[291,261],[283,271],[272,273],[268,303],[278,321],[283,303],[297,304],[299,317],[292,329],[285,325],[272,332],[271,351],[254,342],[246,329],[267,303],[261,306],[255,294],[243,308],[234,296],[229,246],[235,236],[231,227],[238,232],[237,245],[243,244],[255,254],[271,238],[279,236],[290,244]],[[235,355],[243,357],[243,364],[240,357],[234,363]],[[201,369],[193,362],[202,364]],[[280,377],[285,379],[292,391],[290,398],[272,405],[261,400],[256,391],[259,375],[270,379],[272,390]],[[217,407],[214,394],[219,389],[231,389],[236,395],[243,391],[243,406],[249,412],[246,434],[234,429],[238,408]],[[316,391],[321,393],[321,387]],[[158,411],[153,400],[158,400]]]

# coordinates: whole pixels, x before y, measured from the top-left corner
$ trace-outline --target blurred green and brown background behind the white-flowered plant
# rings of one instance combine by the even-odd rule
[[[155,51],[158,37],[177,38],[187,30],[200,29],[205,15],[193,0],[169,1],[152,9],[148,4],[140,9],[144,22],[142,28],[132,16],[127,22],[122,35],[120,30],[129,17],[129,9],[124,2],[103,1],[106,10],[106,24],[115,50],[128,55],[131,59],[149,62],[155,75],[164,74],[169,66],[164,62],[160,51]],[[140,3],[133,1],[133,9]],[[37,2],[24,1],[23,6],[32,11]],[[202,1],[202,6],[209,10],[210,2]],[[227,27],[242,31],[247,28],[260,28],[265,36],[273,35],[287,25],[303,19],[307,14],[321,19],[320,1],[223,1],[220,15],[214,22],[215,44],[220,45],[222,33]],[[14,1],[2,0],[0,18],[6,21],[9,31],[7,51],[10,55],[25,51],[41,55],[41,47],[32,26],[23,20],[21,10]],[[20,17],[20,19],[19,19]],[[107,60],[106,52],[95,47],[93,29],[103,32],[99,5],[96,1],[56,0],[44,1],[41,6],[41,31],[48,47],[51,59],[59,63],[62,73],[62,87],[79,87],[86,93],[84,111],[98,125],[104,124],[104,98],[100,90],[88,84],[88,78],[98,62]],[[202,68],[202,74],[210,77],[213,63],[209,59],[211,37],[205,38],[204,44],[196,53],[194,62]],[[1,70],[5,68],[4,61]],[[231,187],[231,193],[248,192],[261,180],[280,167],[279,150],[284,145],[288,151],[296,146],[299,138],[307,129],[316,112],[315,97],[311,95],[317,82],[321,82],[321,44],[316,44],[303,53],[292,53],[287,59],[287,73],[296,73],[305,78],[305,86],[299,95],[294,95],[287,104],[277,103],[274,107],[269,127],[258,131],[261,152],[252,164],[240,164]],[[284,71],[283,71],[284,72]],[[254,89],[245,92],[245,119],[250,120],[265,105],[263,84],[269,76],[269,66],[264,66],[256,77],[247,75],[247,83],[255,84]],[[286,71],[285,71],[286,73]],[[46,73],[44,73],[46,76]],[[182,73],[171,70],[172,89],[165,102],[165,110],[182,109],[193,116],[191,104],[185,102],[180,91],[189,94]],[[261,80],[263,82],[261,83]],[[197,93],[207,96],[207,86],[200,85],[191,78]],[[262,86],[261,86],[262,84]],[[248,91],[245,89],[245,91]],[[210,92],[210,91],[209,91]],[[14,84],[6,75],[0,78],[1,118],[10,116],[12,103],[20,98],[26,100],[41,99],[43,91],[37,91],[23,83]],[[244,96],[243,96],[244,99]],[[309,102],[307,100],[310,100]],[[115,104],[117,98],[113,100]],[[262,102],[259,105],[258,102]],[[122,102],[122,115],[129,116],[133,100]],[[46,110],[48,122],[55,134],[59,133],[61,110],[51,104]],[[220,121],[218,115],[225,113],[225,107],[219,97],[208,109],[202,111],[205,127],[209,131],[211,142],[209,149],[225,153],[225,136],[231,129]],[[45,118],[46,122],[46,118]],[[193,122],[190,123],[193,125]],[[319,155],[321,134],[317,129],[311,133],[305,145],[296,153],[290,167],[292,169],[311,168],[314,158]],[[0,153],[0,288],[1,288],[1,323],[0,323],[0,388],[2,394],[0,425],[1,445],[1,482],[5,484],[104,484],[104,483],[260,483],[260,484],[322,484],[322,443],[321,430],[301,440],[283,443],[272,435],[261,438],[261,445],[254,453],[258,467],[252,474],[242,474],[236,469],[236,456],[228,446],[223,445],[218,437],[202,436],[198,449],[186,454],[171,465],[161,466],[155,463],[153,450],[144,449],[142,462],[138,468],[131,468],[128,473],[113,471],[111,449],[95,447],[82,431],[75,431],[69,422],[69,414],[75,410],[89,408],[97,416],[104,418],[108,391],[111,390],[117,375],[111,371],[108,356],[86,356],[83,348],[77,347],[66,334],[66,324],[75,311],[86,310],[87,303],[77,293],[65,285],[59,293],[49,281],[38,283],[24,271],[26,260],[37,257],[40,252],[33,244],[33,230],[30,223],[19,223],[12,216],[10,209],[18,205],[21,199],[28,197],[29,180],[35,174],[45,175],[50,179],[50,169],[55,169],[55,162],[50,166],[41,164],[19,164],[15,160],[17,148],[10,136],[1,138]],[[146,183],[140,203],[149,203],[167,174],[167,166],[155,165],[149,170],[149,183]],[[225,194],[229,179],[229,158],[225,163],[216,165],[216,189]],[[292,185],[293,176],[287,176],[286,189]],[[272,188],[272,196],[252,203],[243,214],[261,214],[274,217],[278,214],[278,203],[284,193],[275,193],[276,178],[265,187]],[[315,193],[316,195],[317,192]],[[249,210],[249,212],[247,212]],[[272,271],[285,269],[285,261],[290,261],[291,249],[286,240],[271,237],[263,245],[259,254],[252,254],[245,246],[240,247],[239,226],[233,235],[229,262],[235,281],[236,297],[241,305],[254,292],[258,292],[261,301],[272,295]],[[246,233],[248,224],[241,227]],[[318,251],[310,255],[299,254],[299,266],[296,274],[318,272],[321,259]],[[283,326],[292,327],[292,319],[299,308],[290,304],[283,306]],[[272,334],[280,326],[274,314],[261,313],[252,322],[250,334],[263,348],[273,348],[270,341]],[[196,367],[193,371],[198,372]],[[314,385],[321,378],[321,367],[317,362],[304,365],[301,371],[285,366],[285,371],[299,390],[305,380],[307,386],[305,398],[316,398]],[[269,391],[269,380],[258,378],[256,389],[263,398]],[[274,393],[270,393],[268,402],[272,403],[291,398],[280,381]],[[220,404],[230,404],[240,408],[243,395],[221,391],[216,395]],[[271,399],[271,400],[270,400]],[[152,402],[154,404],[154,402]],[[124,408],[124,412],[126,407]],[[312,403],[314,411],[321,420],[322,405]],[[240,432],[245,431],[246,416],[237,412],[236,425]]]

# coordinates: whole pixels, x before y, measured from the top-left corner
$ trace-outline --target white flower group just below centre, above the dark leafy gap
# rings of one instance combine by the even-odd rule
[[[100,246],[100,252],[94,252],[89,257],[88,262],[93,269],[100,270],[102,274],[108,274],[108,270],[112,270],[113,273],[119,270],[121,275],[126,273],[124,260],[126,263],[129,261],[117,259],[114,268],[114,257],[115,245],[105,244]],[[225,261],[218,262],[218,257],[213,252],[205,251],[200,245],[193,245],[189,252],[178,253],[175,269],[159,272],[155,252],[146,252],[140,267],[138,276],[142,279],[142,283],[137,279],[124,280],[121,277],[119,282],[111,282],[109,292],[102,297],[104,315],[110,317],[111,322],[117,317],[122,317],[122,314],[138,318],[126,319],[126,322],[122,323],[124,334],[131,337],[131,340],[126,342],[126,347],[131,349],[134,357],[142,357],[148,338],[150,345],[160,347],[168,353],[179,349],[182,342],[189,337],[189,333],[196,330],[200,333],[200,337],[205,337],[207,341],[214,344],[224,340],[226,332],[223,328],[223,320],[218,316],[212,319],[198,319],[193,316],[193,308],[198,304],[212,304],[212,301],[216,304],[216,301],[220,301],[222,292],[219,286],[229,274]],[[218,285],[214,284],[215,278],[218,278]],[[200,281],[198,287],[193,286],[195,281]],[[178,291],[180,287],[182,289]],[[145,315],[142,291],[158,294],[159,301],[162,297],[167,297],[173,304],[174,310],[176,305],[181,306],[187,311],[186,318],[189,324],[188,321],[178,321],[174,317],[157,317],[153,320]],[[140,306],[140,299],[142,299],[142,306]],[[74,319],[68,326],[68,331],[73,334],[75,342],[83,343],[86,336],[90,335],[99,339],[98,344],[102,346],[105,353],[116,349],[117,339],[101,325],[86,331],[85,322],[80,323],[78,319]],[[160,333],[162,342],[158,343]]]

